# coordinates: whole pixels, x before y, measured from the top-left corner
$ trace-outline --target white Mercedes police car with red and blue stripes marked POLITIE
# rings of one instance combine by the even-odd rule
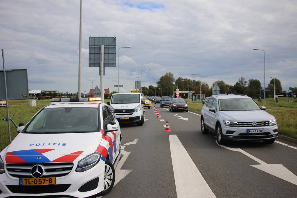
[[[56,98],[1,151],[0,197],[107,194],[121,157],[119,122],[101,98]]]

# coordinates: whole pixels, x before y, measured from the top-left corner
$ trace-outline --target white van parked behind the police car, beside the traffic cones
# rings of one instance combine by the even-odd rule
[[[144,123],[143,96],[140,93],[114,93],[107,102],[119,123]]]

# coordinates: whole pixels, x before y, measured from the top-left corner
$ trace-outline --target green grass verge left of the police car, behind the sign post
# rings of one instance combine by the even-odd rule
[[[29,120],[39,111],[42,107],[49,105],[50,100],[37,100],[37,106],[29,106],[29,100],[10,100],[9,117],[18,125],[20,122],[27,124]],[[0,150],[4,149],[9,144],[8,126],[7,122],[2,121],[7,117],[6,107],[0,108]],[[13,140],[18,135],[17,129],[10,122],[11,139]]]

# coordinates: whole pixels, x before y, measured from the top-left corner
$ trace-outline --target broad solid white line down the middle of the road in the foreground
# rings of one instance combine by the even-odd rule
[[[177,197],[216,197],[176,135],[169,135]]]

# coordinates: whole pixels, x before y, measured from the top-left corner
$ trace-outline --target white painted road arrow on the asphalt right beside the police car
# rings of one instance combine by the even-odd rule
[[[124,145],[122,145],[122,155],[123,157],[121,157],[120,161],[118,162],[118,165],[116,166],[116,179],[114,181],[113,186],[116,186],[117,183],[119,183],[119,181],[121,181],[126,175],[128,175],[132,170],[125,170],[125,169],[121,169],[121,167],[124,165],[124,163],[126,162],[128,156],[130,155],[131,152],[128,151],[124,151],[124,148],[130,144],[136,144],[137,141],[139,139],[136,138],[133,142],[128,142]],[[100,196],[102,197],[102,196]],[[96,198],[100,198],[100,197],[96,197]]]

